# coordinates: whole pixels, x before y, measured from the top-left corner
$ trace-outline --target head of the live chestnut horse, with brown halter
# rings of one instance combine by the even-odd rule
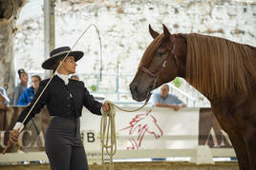
[[[130,90],[133,99],[143,101],[155,88],[184,77],[186,40],[182,36],[172,35],[163,25],[163,33],[158,33],[149,25],[153,42],[145,50]]]

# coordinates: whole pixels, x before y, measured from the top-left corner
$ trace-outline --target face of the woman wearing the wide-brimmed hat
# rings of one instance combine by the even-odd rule
[[[68,56],[66,60],[59,67],[62,74],[74,74],[75,73],[75,58],[73,56]]]

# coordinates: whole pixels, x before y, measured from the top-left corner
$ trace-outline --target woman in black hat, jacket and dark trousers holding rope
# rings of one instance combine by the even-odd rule
[[[46,60],[42,67],[54,71],[69,51],[70,47],[53,49],[50,53],[51,58]],[[24,122],[32,105],[49,79],[40,83],[32,104],[22,111],[11,131],[10,140],[16,142],[22,128],[46,105],[52,121],[46,131],[45,150],[52,170],[88,170],[86,153],[80,137],[79,117],[82,113],[82,107],[85,106],[96,115],[101,115],[101,108],[104,111],[109,111],[109,105],[98,103],[90,95],[83,82],[69,79],[69,75],[75,73],[75,62],[81,59],[82,56],[83,52],[81,51],[71,51],[69,53],[69,56],[57,69],[53,80]]]

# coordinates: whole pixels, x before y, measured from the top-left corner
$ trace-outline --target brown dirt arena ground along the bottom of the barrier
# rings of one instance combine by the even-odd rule
[[[215,165],[196,165],[189,162],[117,162],[115,170],[239,170],[237,162],[216,162]],[[50,170],[49,164],[0,165],[0,170]],[[101,165],[90,165],[90,170],[102,170]]]

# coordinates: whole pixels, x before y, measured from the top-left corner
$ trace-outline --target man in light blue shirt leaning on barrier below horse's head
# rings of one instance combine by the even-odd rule
[[[160,93],[153,95],[153,106],[170,107],[178,111],[181,107],[186,105],[175,95],[169,94],[169,85],[161,85]]]

